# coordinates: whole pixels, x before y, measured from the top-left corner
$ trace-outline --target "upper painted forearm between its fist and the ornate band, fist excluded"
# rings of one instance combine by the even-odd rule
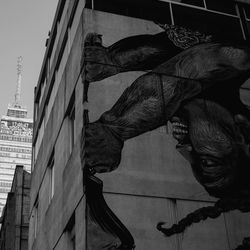
[[[181,51],[166,32],[128,37],[107,48],[120,72],[153,69]]]

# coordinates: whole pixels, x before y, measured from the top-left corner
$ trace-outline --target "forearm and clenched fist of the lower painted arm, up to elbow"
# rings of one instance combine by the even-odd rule
[[[115,169],[125,140],[164,125],[184,100],[200,91],[197,81],[155,73],[139,77],[111,110],[88,125],[85,164],[96,172]]]

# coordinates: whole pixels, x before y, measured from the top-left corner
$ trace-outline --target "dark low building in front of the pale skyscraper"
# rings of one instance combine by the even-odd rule
[[[1,217],[0,249],[28,249],[31,174],[17,165]]]

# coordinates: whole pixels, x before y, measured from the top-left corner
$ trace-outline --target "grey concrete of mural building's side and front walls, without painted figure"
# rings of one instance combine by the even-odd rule
[[[59,15],[63,2],[65,1],[59,2],[56,15]],[[30,250],[71,249],[73,243],[70,235],[73,228],[75,249],[90,249],[86,240],[86,201],[80,162],[83,109],[88,109],[90,122],[95,121],[115,103],[124,89],[143,73],[122,73],[91,84],[88,91],[89,102],[83,104],[80,61],[86,34],[102,34],[103,43],[108,46],[128,36],[156,34],[161,31],[152,21],[84,9],[83,0],[66,1],[65,4],[67,12],[65,19],[60,20],[60,25],[61,22],[63,24],[60,26],[60,34],[56,35],[57,45],[53,61],[50,62],[52,66],[47,85],[43,96],[40,96],[42,100],[39,100],[39,85],[36,92],[36,103],[40,103],[40,106],[34,125],[33,150],[39,131],[42,131],[43,113],[49,104],[49,95],[53,93],[57,64],[65,63],[37,158],[33,161]],[[75,17],[71,23],[72,13]],[[56,25],[57,18],[53,27]],[[70,49],[68,56],[62,56],[63,61],[60,61],[60,50],[66,41],[65,34],[71,34],[70,42],[66,42]],[[46,67],[47,58],[50,57],[50,51],[52,50],[49,43],[43,69]],[[69,110],[72,103],[75,107],[75,133],[71,150]],[[184,236],[166,238],[155,229],[159,221],[172,224],[196,208],[214,203],[214,199],[208,196],[194,179],[189,164],[176,151],[171,129],[168,124],[167,128],[158,128],[125,143],[119,168],[110,174],[98,175],[104,182],[107,203],[132,233],[138,250],[208,250],[236,247],[249,228],[249,214],[243,216],[233,212],[216,220],[207,220],[189,228]],[[49,162],[52,157],[55,178],[54,194],[51,198]],[[236,225],[241,230],[235,231]]]

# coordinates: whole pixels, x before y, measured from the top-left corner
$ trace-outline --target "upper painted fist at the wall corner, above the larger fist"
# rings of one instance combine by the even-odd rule
[[[87,34],[81,59],[82,81],[100,81],[106,77],[119,73],[116,65],[102,45],[102,37],[97,33]]]

